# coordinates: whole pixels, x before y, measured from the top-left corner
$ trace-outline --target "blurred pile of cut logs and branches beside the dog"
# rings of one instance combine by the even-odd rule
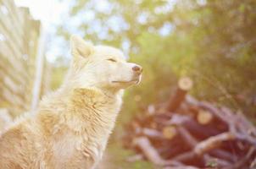
[[[150,105],[127,124],[123,144],[159,168],[256,168],[256,128],[242,112],[198,101],[182,78],[170,101]]]

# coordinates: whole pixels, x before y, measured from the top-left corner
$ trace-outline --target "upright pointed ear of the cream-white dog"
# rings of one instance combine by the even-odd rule
[[[70,47],[72,57],[89,57],[92,54],[92,43],[84,41],[81,37],[77,35],[71,35]]]

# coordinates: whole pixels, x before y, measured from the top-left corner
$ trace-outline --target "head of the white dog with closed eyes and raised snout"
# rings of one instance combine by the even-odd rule
[[[136,85],[142,77],[142,67],[127,63],[123,52],[111,46],[93,46],[76,35],[70,38],[73,57],[71,78],[76,87],[97,87],[120,90]]]

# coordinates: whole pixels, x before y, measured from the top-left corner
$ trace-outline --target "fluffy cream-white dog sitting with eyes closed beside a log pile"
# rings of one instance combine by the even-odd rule
[[[122,90],[138,84],[142,68],[120,50],[71,37],[73,61],[64,84],[45,96],[35,116],[0,138],[0,168],[94,168],[120,112]]]

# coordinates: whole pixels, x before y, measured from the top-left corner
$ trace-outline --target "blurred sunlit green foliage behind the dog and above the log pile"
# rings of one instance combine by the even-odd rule
[[[78,0],[70,20],[89,11],[92,19],[76,24],[76,30],[97,44],[128,43],[131,62],[143,67],[142,84],[126,93],[120,121],[149,103],[164,101],[183,75],[194,80],[193,95],[255,116],[255,1],[109,0],[107,7]],[[161,35],[164,25],[171,29]],[[58,33],[68,38],[68,28],[63,25]]]

